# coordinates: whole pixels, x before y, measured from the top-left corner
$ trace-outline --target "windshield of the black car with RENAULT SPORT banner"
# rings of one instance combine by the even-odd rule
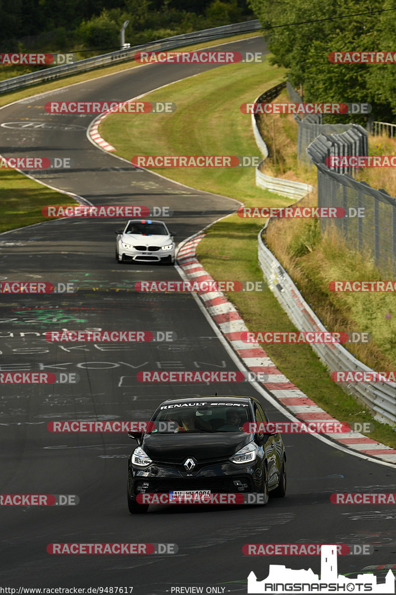
[[[174,403],[162,405],[151,419],[151,433],[238,432],[251,420],[248,404],[242,403]]]

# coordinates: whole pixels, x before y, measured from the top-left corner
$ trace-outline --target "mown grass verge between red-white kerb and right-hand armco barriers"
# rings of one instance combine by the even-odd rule
[[[134,114],[113,114],[104,120],[101,133],[126,159],[135,155],[256,155],[250,117],[239,105],[253,99],[281,80],[283,71],[240,64],[223,71],[201,74],[167,87],[168,101],[178,105],[176,114],[142,121]],[[162,100],[164,89],[150,93],[147,101]],[[220,99],[219,99],[220,98]],[[242,171],[240,171],[242,170]],[[192,168],[157,168],[167,177],[210,192],[231,196],[246,206],[281,206],[290,201],[255,187],[254,170],[194,171]],[[183,200],[185,200],[183,198]],[[257,235],[263,220],[230,215],[210,227],[198,245],[198,258],[217,280],[262,281],[257,261]],[[252,331],[294,331],[292,322],[266,289],[257,293],[229,294]],[[342,422],[374,424],[370,437],[396,447],[396,436],[387,424],[374,421],[353,397],[335,384],[308,345],[265,345],[265,350],[287,377],[312,400]]]

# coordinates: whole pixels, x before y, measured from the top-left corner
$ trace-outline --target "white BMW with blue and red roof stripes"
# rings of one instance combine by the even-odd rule
[[[131,219],[123,230],[115,232],[118,262],[175,262],[174,233],[163,221]]]

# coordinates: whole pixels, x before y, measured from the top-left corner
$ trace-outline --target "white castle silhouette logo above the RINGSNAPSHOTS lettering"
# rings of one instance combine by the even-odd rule
[[[292,570],[270,564],[268,577],[258,581],[254,572],[248,576],[248,593],[395,593],[395,577],[389,569],[385,583],[377,584],[371,572],[346,578],[337,574],[337,546],[325,545],[321,550],[321,578],[308,570]]]

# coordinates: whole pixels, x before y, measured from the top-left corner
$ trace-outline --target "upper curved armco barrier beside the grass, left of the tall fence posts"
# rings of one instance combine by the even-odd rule
[[[279,95],[282,89],[286,87],[286,83],[280,83],[268,89],[262,93],[255,101],[255,103],[267,103],[272,101],[275,97]],[[264,159],[267,159],[269,152],[268,147],[262,138],[260,131],[257,125],[257,118],[258,115],[252,114],[252,129],[253,134],[256,140],[256,145],[260,149],[262,155],[264,155]],[[287,196],[288,198],[302,198],[308,192],[312,192],[314,190],[313,186],[310,184],[305,184],[303,182],[296,182],[292,180],[284,180],[283,178],[274,178],[271,176],[266,176],[265,174],[260,171],[261,165],[264,163],[264,160],[261,161],[258,166],[256,167],[256,186],[260,188],[264,188],[265,190],[269,190],[270,192],[276,192],[281,196]]]

